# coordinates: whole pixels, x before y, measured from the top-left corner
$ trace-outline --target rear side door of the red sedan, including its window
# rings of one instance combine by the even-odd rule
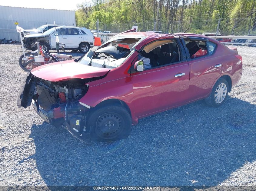
[[[214,81],[221,75],[222,55],[216,54],[217,44],[203,38],[185,38],[190,72],[191,100],[208,95]]]

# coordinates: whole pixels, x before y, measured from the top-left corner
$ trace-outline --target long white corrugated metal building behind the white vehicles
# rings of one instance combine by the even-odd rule
[[[44,24],[76,26],[75,11],[0,6],[0,39],[20,40],[15,22],[23,29],[36,29]]]

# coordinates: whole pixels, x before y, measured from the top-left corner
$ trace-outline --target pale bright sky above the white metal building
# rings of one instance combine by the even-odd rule
[[[76,5],[90,0],[35,0],[35,1],[21,1],[21,0],[0,0],[0,5],[12,7],[26,7],[26,8],[44,8],[44,9],[61,9],[61,10],[77,10]]]

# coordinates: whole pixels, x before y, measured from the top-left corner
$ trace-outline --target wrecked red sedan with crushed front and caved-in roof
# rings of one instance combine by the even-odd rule
[[[219,107],[241,78],[242,57],[217,40],[133,31],[79,59],[32,69],[18,106],[32,103],[46,122],[65,124],[80,140],[112,141],[155,113],[201,99]]]

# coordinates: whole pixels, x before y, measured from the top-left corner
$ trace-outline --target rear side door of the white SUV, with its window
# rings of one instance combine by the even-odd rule
[[[78,48],[83,36],[78,29],[68,28],[68,48]]]

